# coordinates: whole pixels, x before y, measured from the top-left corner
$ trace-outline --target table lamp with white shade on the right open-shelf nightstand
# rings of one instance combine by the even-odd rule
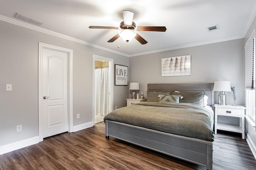
[[[226,105],[226,94],[225,92],[231,92],[231,83],[228,81],[215,81],[213,91],[220,92],[219,94],[219,105]]]

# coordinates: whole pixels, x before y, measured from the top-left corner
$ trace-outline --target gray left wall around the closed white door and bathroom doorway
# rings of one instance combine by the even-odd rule
[[[73,49],[74,125],[92,121],[92,56],[129,66],[128,57],[4,21],[0,29],[0,146],[38,136],[38,42]],[[5,91],[6,84],[12,84],[12,91]],[[128,86],[114,86],[114,106],[126,106],[126,98]],[[16,125],[22,125],[22,132],[16,132]]]

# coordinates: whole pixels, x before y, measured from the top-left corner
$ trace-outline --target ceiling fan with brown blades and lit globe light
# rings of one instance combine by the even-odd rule
[[[119,37],[122,37],[124,41],[129,42],[132,38],[135,38],[141,44],[148,43],[144,38],[142,38],[136,31],[166,31],[166,27],[159,27],[159,26],[140,26],[136,27],[136,24],[132,21],[133,19],[133,12],[128,10],[123,11],[124,21],[120,23],[120,27],[107,27],[107,26],[90,26],[89,28],[96,28],[96,29],[120,29],[121,31],[108,40],[109,43],[114,42]]]

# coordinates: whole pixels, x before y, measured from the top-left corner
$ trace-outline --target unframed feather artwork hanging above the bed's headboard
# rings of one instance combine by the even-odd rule
[[[191,76],[191,55],[162,59],[162,77]]]

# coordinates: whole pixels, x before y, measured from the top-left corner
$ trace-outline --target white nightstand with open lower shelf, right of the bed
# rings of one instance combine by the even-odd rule
[[[215,115],[214,115],[214,133],[217,134],[217,129],[242,133],[242,139],[244,139],[244,106],[232,106],[232,105],[218,105],[214,104],[215,107]],[[230,117],[238,117],[239,118],[239,126],[238,125],[228,125],[224,123],[218,123],[218,116],[230,116]]]

